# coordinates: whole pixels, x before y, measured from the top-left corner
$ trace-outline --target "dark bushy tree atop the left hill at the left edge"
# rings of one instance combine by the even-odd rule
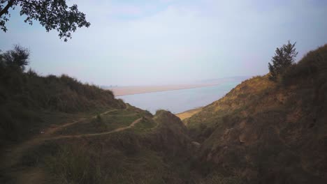
[[[0,64],[8,69],[24,71],[29,64],[29,50],[15,45],[12,50],[0,52]]]

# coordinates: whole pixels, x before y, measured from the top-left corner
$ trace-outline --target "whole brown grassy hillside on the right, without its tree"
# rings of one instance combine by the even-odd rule
[[[282,79],[247,79],[184,120],[198,158],[244,183],[326,183],[327,45]]]

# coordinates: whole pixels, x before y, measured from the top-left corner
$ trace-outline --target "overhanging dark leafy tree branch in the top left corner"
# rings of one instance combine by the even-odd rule
[[[20,6],[20,15],[27,16],[24,22],[33,24],[33,20],[37,20],[47,32],[57,30],[59,38],[64,38],[65,42],[78,27],[90,25],[78,6],[73,4],[68,7],[66,0],[0,0],[0,28],[4,32],[8,30],[9,9],[16,6]]]

